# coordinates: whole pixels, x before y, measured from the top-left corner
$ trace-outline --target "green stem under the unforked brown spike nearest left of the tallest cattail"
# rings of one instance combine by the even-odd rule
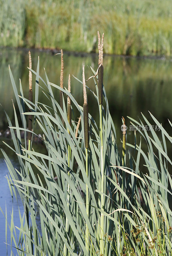
[[[88,177],[88,148],[85,148],[85,154],[86,154],[86,174]],[[87,184],[86,184],[86,212],[87,212],[87,215],[89,216],[89,191],[88,191]],[[87,252],[89,253],[89,230],[88,230],[87,223],[86,223],[85,229],[86,229],[86,231],[85,231],[85,248],[86,248]]]

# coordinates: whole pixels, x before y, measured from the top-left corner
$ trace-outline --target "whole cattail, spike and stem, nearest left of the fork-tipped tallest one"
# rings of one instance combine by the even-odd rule
[[[88,104],[87,104],[87,92],[86,92],[86,84],[85,84],[85,74],[84,74],[84,66],[82,69],[82,81],[83,81],[83,117],[84,117],[84,143],[85,143],[85,154],[86,154],[86,174],[88,177],[88,146],[89,146],[89,121],[88,121]],[[89,216],[89,191],[88,185],[86,184],[86,212]],[[86,223],[85,227],[85,248],[87,252],[89,252],[89,230]]]

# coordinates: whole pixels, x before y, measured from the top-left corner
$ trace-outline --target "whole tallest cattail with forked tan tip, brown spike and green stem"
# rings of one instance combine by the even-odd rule
[[[104,210],[104,168],[103,168],[103,131],[102,131],[102,101],[103,101],[103,41],[100,40],[100,34],[98,32],[98,101],[100,111],[100,140],[101,140],[101,198],[100,209]],[[104,254],[104,216],[100,217],[100,254]]]

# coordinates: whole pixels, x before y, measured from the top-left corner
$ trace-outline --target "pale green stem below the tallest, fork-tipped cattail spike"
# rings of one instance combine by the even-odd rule
[[[103,131],[102,131],[102,104],[100,104],[100,139],[101,139],[101,198],[100,209],[104,210],[104,169],[103,169]],[[104,254],[104,216],[100,216],[100,254]]]

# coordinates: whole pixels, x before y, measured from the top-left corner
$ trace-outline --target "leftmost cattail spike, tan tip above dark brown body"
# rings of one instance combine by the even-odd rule
[[[32,60],[31,60],[31,54],[29,51],[29,68],[32,69]],[[29,100],[33,102],[33,92],[32,92],[32,72],[29,70]],[[29,108],[29,112],[31,112],[31,109]],[[28,116],[28,130],[32,131],[32,115]],[[28,132],[28,140],[31,140],[32,133]]]

